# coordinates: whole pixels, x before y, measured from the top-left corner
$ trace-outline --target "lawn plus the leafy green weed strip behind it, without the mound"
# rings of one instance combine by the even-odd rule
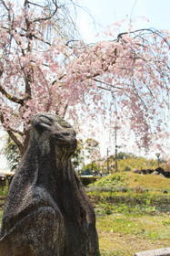
[[[95,204],[96,227],[102,255],[134,255],[136,251],[170,246],[169,211],[133,201]]]

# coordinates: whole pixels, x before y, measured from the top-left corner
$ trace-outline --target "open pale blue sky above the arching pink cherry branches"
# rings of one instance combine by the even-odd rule
[[[86,12],[95,20],[94,24],[89,14],[78,11],[77,25],[87,42],[96,40],[96,32],[127,16],[132,19],[138,17],[135,28],[170,29],[169,0],[79,0],[78,3],[85,6]],[[145,16],[149,22],[139,16]]]

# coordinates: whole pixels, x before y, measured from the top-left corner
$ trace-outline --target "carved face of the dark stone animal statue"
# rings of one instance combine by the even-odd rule
[[[50,113],[40,113],[35,115],[32,124],[40,136],[46,135],[52,144],[75,150],[75,130],[63,118]]]

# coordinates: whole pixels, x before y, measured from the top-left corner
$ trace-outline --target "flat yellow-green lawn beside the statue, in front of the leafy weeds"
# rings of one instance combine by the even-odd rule
[[[136,251],[170,246],[169,215],[125,213],[97,217],[101,255],[134,255]]]

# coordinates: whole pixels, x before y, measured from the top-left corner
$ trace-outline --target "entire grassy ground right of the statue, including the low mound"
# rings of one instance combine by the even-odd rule
[[[124,172],[105,176],[88,190],[101,256],[170,247],[169,179]]]

